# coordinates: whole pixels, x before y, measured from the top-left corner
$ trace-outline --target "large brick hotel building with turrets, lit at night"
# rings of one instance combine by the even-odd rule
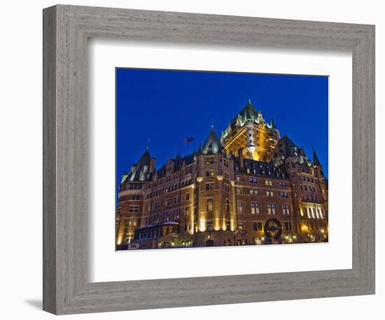
[[[218,138],[156,169],[147,149],[119,186],[116,249],[328,241],[328,181],[248,101]]]

